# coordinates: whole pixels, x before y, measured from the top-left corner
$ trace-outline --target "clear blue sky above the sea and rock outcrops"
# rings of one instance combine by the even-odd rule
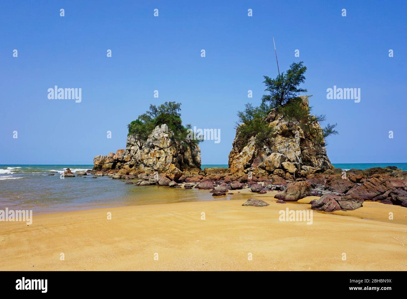
[[[185,124],[221,129],[220,143],[201,144],[201,158],[227,164],[236,111],[260,103],[263,75],[277,76],[273,36],[280,71],[304,61],[314,113],[338,124],[328,139],[331,162],[407,162],[406,8],[405,1],[2,1],[0,164],[92,164],[125,148],[127,124],[164,101],[182,103]],[[49,100],[54,85],[82,88],[81,103]],[[328,100],[334,85],[360,88],[360,103]]]

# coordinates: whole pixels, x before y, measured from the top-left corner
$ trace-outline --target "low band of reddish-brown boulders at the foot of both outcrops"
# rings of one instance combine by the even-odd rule
[[[301,171],[294,180],[285,179],[286,174],[275,172],[267,176],[239,176],[231,174],[229,168],[193,168],[182,172],[174,180],[166,174],[129,174],[123,170],[88,170],[72,173],[69,169],[65,177],[94,175],[94,178],[107,176],[112,179],[129,180],[135,186],[166,186],[168,188],[208,190],[212,196],[232,195],[242,189],[249,192],[267,194],[277,191],[274,197],[278,203],[298,201],[306,196],[319,196],[310,202],[313,210],[335,212],[355,210],[364,201],[378,201],[383,204],[407,207],[407,171],[394,166],[368,168],[365,170],[340,168],[320,173]],[[280,175],[279,175],[280,174]]]

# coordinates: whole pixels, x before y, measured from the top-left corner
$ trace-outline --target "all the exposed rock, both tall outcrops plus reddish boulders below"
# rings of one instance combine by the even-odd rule
[[[300,98],[309,114],[308,96]],[[316,118],[299,122],[272,109],[265,122],[274,133],[263,142],[243,134],[245,124],[239,124],[229,168],[202,170],[197,143],[178,140],[162,124],[146,141],[129,135],[125,149],[94,157],[94,168],[87,173],[93,178],[131,180],[127,183],[136,186],[210,190],[213,196],[241,189],[258,194],[277,191],[278,203],[318,196],[320,199],[311,201],[311,208],[326,212],[355,210],[363,201],[407,207],[406,171],[392,166],[347,171],[333,167],[326,154],[324,131]],[[65,176],[73,174],[67,170]]]

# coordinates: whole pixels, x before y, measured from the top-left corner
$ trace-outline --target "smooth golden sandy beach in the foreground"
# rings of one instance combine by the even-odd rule
[[[244,191],[231,200],[35,215],[29,226],[2,222],[0,270],[407,270],[404,207],[368,201],[354,211],[313,211],[307,225],[279,221],[279,211],[310,210],[315,197],[279,204],[274,192],[250,194],[270,205],[244,207]]]

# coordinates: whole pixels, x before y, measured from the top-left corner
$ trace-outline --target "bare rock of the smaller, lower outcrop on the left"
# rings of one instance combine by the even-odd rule
[[[174,140],[173,135],[166,124],[155,127],[145,142],[129,135],[125,149],[94,157],[93,170],[119,170],[122,175],[158,171],[177,180],[183,170],[201,167],[201,150],[190,140]]]

